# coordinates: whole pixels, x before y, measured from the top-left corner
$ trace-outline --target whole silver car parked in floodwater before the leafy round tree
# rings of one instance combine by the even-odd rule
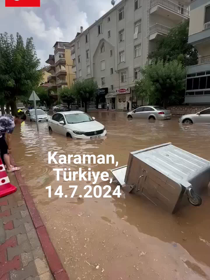
[[[127,113],[127,118],[141,118],[149,120],[170,120],[171,111],[160,106],[141,106]]]

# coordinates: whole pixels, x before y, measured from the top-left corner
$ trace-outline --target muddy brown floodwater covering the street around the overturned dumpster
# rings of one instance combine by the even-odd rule
[[[200,207],[189,204],[172,215],[144,197],[123,191],[120,198],[79,198],[87,192],[84,186],[92,183],[63,178],[58,182],[53,168],[64,166],[48,164],[48,151],[57,151],[59,155],[113,154],[120,167],[127,164],[131,151],[167,142],[210,160],[210,126],[182,126],[178,118],[129,121],[122,112],[91,115],[105,125],[106,139],[82,141],[49,135],[47,123],[39,124],[39,136],[35,123],[16,127],[13,135],[15,160],[70,279],[210,279],[207,193]],[[79,167],[94,171],[115,168],[113,164],[74,163],[65,167],[72,171]],[[70,198],[69,185],[77,184],[76,194]],[[101,179],[97,184],[107,185]],[[46,190],[49,185],[52,198]],[[54,195],[59,185],[67,198]],[[112,190],[116,186],[112,183]]]

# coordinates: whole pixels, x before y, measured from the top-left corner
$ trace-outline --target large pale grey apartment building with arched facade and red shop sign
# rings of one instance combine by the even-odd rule
[[[77,79],[93,77],[99,97],[110,109],[125,109],[132,97],[140,67],[155,49],[157,38],[189,18],[189,4],[177,0],[122,0],[71,41],[73,71]],[[99,98],[100,99],[100,98]],[[99,100],[100,101],[100,100]],[[95,100],[89,104],[95,106]],[[100,103],[100,102],[99,102]]]

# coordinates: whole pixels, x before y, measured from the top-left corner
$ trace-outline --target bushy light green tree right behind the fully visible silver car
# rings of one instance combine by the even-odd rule
[[[135,82],[135,94],[150,104],[167,107],[169,102],[178,103],[185,89],[186,70],[177,60],[157,61],[141,69],[142,79]]]

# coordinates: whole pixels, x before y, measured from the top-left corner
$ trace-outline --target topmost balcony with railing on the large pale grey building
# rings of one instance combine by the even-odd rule
[[[150,14],[161,15],[179,23],[190,17],[190,11],[169,0],[151,0]]]

